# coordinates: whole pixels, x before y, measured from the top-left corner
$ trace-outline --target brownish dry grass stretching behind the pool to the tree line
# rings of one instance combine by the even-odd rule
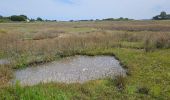
[[[19,64],[21,66],[36,62],[37,57],[49,61],[56,56],[94,48],[152,51],[170,47],[167,22],[12,23],[0,26],[0,52],[14,58],[14,65],[24,62]]]

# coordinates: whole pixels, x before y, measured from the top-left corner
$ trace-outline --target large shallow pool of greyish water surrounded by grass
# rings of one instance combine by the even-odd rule
[[[17,70],[13,83],[20,81],[20,84],[24,86],[41,82],[83,83],[120,74],[125,75],[125,70],[114,57],[74,56],[45,65]]]

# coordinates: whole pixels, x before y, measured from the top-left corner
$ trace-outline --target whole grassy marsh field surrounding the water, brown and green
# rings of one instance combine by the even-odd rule
[[[74,55],[114,55],[127,77],[83,84],[7,83],[16,69]],[[0,100],[170,99],[170,21],[0,23]]]

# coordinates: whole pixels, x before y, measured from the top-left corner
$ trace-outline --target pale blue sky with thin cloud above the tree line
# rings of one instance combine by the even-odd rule
[[[170,13],[170,0],[0,0],[0,15],[51,20],[151,19],[161,11]]]

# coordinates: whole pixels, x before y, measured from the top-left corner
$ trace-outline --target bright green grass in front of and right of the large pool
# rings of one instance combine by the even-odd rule
[[[94,80],[84,84],[49,83],[30,87],[17,84],[2,89],[0,97],[5,100],[170,98],[170,49],[146,53],[140,49],[110,48],[90,50],[86,54],[115,54],[129,71],[125,88],[120,91],[112,79]]]

